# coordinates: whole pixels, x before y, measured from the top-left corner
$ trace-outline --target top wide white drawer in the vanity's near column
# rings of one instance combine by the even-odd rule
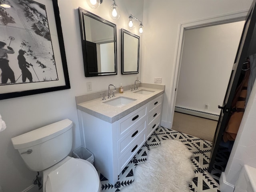
[[[146,116],[147,112],[147,105],[144,105],[138,109],[136,109],[134,112],[126,115],[125,117],[121,118],[117,121],[117,134],[118,139],[122,138],[125,134],[127,134],[130,131],[130,128],[132,126],[135,126],[135,124],[141,120],[143,117]]]

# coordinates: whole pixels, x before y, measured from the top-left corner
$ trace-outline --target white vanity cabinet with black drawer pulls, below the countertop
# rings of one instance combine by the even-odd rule
[[[111,184],[160,124],[163,94],[110,123],[78,110],[81,135],[94,166]]]

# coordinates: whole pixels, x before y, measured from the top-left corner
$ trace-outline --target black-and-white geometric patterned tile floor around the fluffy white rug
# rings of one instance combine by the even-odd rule
[[[133,172],[136,165],[147,160],[147,153],[150,149],[160,146],[161,140],[174,139],[183,142],[187,148],[194,154],[191,159],[194,165],[196,177],[190,184],[190,190],[193,192],[220,192],[219,178],[222,171],[225,170],[226,161],[229,153],[227,148],[220,148],[216,157],[216,162],[212,169],[212,173],[208,173],[208,164],[212,142],[202,140],[200,138],[178,132],[176,130],[167,129],[162,126],[156,128],[154,133],[148,138],[137,154],[132,158],[128,165],[118,176],[118,182],[113,186],[108,182],[102,174],[100,175],[100,183],[102,192],[118,192],[122,188],[133,182]]]

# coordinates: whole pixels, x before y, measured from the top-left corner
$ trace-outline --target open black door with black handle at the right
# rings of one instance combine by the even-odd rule
[[[256,0],[253,1],[252,6],[248,12],[246,22],[244,24],[244,29],[242,32],[242,36],[240,39],[240,44],[238,46],[238,51],[236,53],[236,59],[232,68],[232,72],[230,75],[230,80],[228,83],[228,88],[226,90],[226,95],[224,98],[224,102],[222,107],[222,111],[220,112],[220,118],[218,120],[218,124],[216,127],[216,131],[214,134],[214,139],[212,142],[212,150],[210,155],[210,163],[208,172],[212,172],[212,168],[214,165],[214,160],[216,158],[216,154],[218,152],[218,147],[222,140],[222,134],[225,131],[226,124],[228,122],[230,112],[231,112],[231,104],[236,92],[236,87],[238,85],[238,80],[242,71],[242,66],[244,61],[249,56],[248,48],[252,39],[254,32],[254,26],[256,24],[256,10],[255,10]]]

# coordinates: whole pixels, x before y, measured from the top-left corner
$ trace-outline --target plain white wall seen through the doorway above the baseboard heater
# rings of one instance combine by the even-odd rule
[[[243,27],[240,21],[185,31],[175,106],[220,114]]]

